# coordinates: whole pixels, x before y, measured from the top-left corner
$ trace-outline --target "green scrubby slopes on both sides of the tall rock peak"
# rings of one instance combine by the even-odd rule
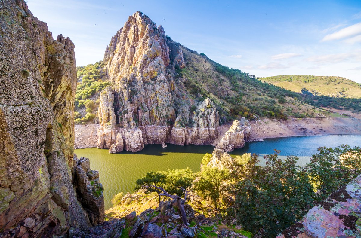
[[[166,37],[171,41],[169,36]],[[175,100],[177,104],[175,107],[181,107],[186,103],[194,111],[192,105],[210,98],[219,111],[220,124],[242,118],[242,116],[251,120],[255,118],[312,118],[317,117],[317,114],[333,116],[305,103],[298,93],[264,83],[255,75],[220,65],[205,54],[198,54],[179,43],[173,42],[173,44],[182,50],[185,62],[182,69],[175,64],[167,69],[180,93],[176,98],[181,99]],[[75,123],[89,122],[95,118],[95,111],[99,105],[99,93],[111,84],[103,67],[103,61],[77,67],[78,87],[75,110],[80,114],[76,113]],[[89,101],[93,101],[95,106],[90,103],[91,105],[86,107]],[[93,116],[90,114],[86,116],[85,110]]]

